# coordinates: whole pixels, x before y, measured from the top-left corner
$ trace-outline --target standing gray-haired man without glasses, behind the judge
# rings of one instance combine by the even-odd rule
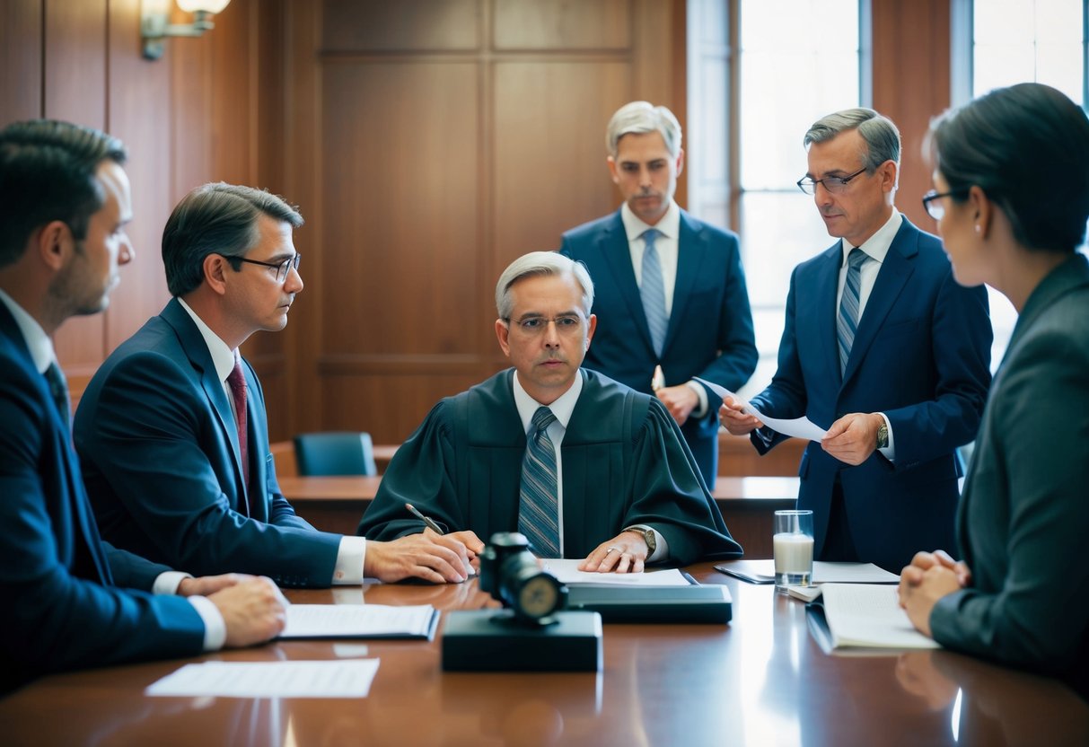
[[[720,401],[693,377],[736,391],[758,357],[737,236],[673,201],[684,150],[669,109],[646,101],[621,107],[607,145],[624,204],[564,233],[560,248],[586,265],[597,286],[598,333],[586,367],[653,391],[713,489]],[[664,380],[656,379],[657,366]]]

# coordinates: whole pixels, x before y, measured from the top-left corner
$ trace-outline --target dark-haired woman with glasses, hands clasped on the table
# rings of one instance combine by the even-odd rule
[[[920,552],[901,604],[943,646],[1053,674],[1089,698],[1089,120],[1027,83],[931,125],[923,197],[957,282],[1017,326],[957,516],[960,561]]]

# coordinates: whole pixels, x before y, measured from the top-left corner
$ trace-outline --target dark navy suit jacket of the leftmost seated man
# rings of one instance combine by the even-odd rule
[[[193,605],[147,593],[169,568],[99,540],[68,425],[3,304],[0,381],[0,693],[48,672],[198,654]]]

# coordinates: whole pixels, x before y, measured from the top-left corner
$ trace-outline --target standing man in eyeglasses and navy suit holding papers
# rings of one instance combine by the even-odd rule
[[[840,241],[795,268],[779,370],[751,404],[828,429],[798,473],[815,558],[898,572],[919,548],[955,544],[956,450],[975,439],[991,380],[987,294],[958,285],[940,240],[893,206],[892,121],[835,112],[804,144],[798,186]],[[720,415],[761,454],[787,438],[732,399]]]

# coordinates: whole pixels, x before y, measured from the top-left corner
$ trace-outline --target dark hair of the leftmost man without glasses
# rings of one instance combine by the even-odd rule
[[[106,201],[98,164],[126,157],[118,138],[70,122],[15,122],[0,131],[0,267],[19,261],[30,234],[51,221],[85,238]]]

